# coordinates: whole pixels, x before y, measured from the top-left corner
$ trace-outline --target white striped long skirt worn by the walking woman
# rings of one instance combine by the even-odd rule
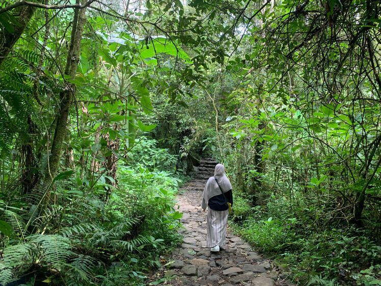
[[[226,226],[228,223],[229,210],[214,211],[208,207],[208,214],[206,217],[207,231],[206,231],[206,247],[214,247],[219,245],[225,246]]]

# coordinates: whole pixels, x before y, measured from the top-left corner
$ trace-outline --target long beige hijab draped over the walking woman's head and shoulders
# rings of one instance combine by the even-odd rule
[[[215,179],[214,179],[215,178]],[[224,193],[230,191],[232,189],[232,185],[230,184],[230,180],[225,175],[225,167],[222,164],[217,164],[214,168],[214,177],[210,177],[206,182],[204,192],[202,193],[202,204],[201,207],[203,210],[208,206],[208,201],[211,197],[217,196],[221,194],[221,190],[219,185],[217,185],[217,180],[220,184],[221,189]]]

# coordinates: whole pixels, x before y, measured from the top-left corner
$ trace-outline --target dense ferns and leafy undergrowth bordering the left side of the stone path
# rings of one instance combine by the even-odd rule
[[[180,241],[174,198],[181,181],[176,158],[154,140],[134,152],[133,164],[118,166],[107,203],[106,179],[92,184],[79,173],[57,180],[55,203],[0,200],[0,285],[144,285],[144,273]]]

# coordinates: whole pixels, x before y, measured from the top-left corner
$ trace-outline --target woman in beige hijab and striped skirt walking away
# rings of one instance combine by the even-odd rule
[[[202,198],[202,209],[205,211],[207,206],[209,209],[206,219],[206,247],[213,252],[220,251],[225,246],[228,202],[233,205],[232,185],[225,175],[224,165],[215,166],[214,176],[206,182]]]

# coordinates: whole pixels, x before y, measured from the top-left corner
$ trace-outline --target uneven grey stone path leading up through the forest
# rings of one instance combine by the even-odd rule
[[[213,175],[216,162],[203,159],[196,177],[178,196],[179,211],[183,212],[180,229],[184,239],[169,257],[168,263],[156,272],[151,281],[168,278],[159,285],[230,286],[290,285],[285,275],[273,263],[253,251],[239,237],[227,233],[226,249],[210,252],[206,246],[206,212],[201,209],[206,180]]]

